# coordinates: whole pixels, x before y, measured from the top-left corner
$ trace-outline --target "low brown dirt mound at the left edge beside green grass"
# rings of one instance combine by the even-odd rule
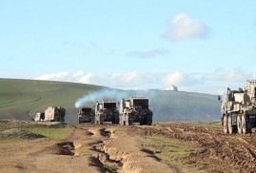
[[[40,134],[31,133],[25,129],[11,128],[7,130],[0,131],[0,139],[24,139],[33,140],[37,138],[45,138],[45,136]]]

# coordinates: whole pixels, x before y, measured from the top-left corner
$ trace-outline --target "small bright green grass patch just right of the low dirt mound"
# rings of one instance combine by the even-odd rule
[[[51,139],[64,139],[69,137],[71,130],[71,128],[31,128],[30,132]]]

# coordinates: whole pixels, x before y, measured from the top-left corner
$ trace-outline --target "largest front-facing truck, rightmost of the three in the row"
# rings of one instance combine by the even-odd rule
[[[122,99],[119,106],[120,125],[152,125],[152,111],[148,108],[145,97],[130,97]]]

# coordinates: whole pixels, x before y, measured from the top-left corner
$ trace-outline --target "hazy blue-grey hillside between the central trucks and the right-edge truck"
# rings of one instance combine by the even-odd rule
[[[150,107],[155,115],[154,121],[212,121],[221,117],[221,104],[216,95],[150,91]]]

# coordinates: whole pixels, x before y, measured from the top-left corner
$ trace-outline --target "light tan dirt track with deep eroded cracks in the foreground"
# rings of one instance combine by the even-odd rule
[[[128,128],[79,125],[61,141],[2,144],[0,172],[179,172],[142,151],[146,139]]]

